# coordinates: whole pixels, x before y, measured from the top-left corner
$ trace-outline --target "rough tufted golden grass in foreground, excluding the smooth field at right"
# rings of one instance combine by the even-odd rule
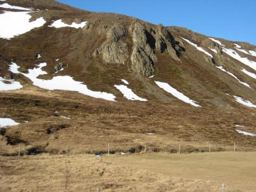
[[[148,157],[155,157],[155,160],[152,164],[146,165]],[[188,158],[184,155],[182,157],[185,157],[184,160]],[[191,160],[194,159],[194,155],[189,157]],[[135,160],[134,163],[131,162],[132,159]],[[142,161],[139,163],[138,159]],[[173,169],[167,168],[165,173],[160,173],[157,170],[160,164],[162,168],[169,167],[169,164],[162,164],[161,159],[164,160],[166,157],[159,154],[121,158],[113,155],[101,159],[93,155],[47,154],[0,157],[0,186],[1,191],[97,191],[97,188],[101,191],[217,192],[221,190],[221,183],[203,181],[196,179],[196,176],[195,179],[187,179],[186,172],[181,173],[184,179],[175,177],[176,166]],[[126,163],[129,163],[129,166]],[[65,190],[66,166],[71,172],[67,190]],[[148,166],[152,166],[151,170],[148,170]],[[194,168],[196,166],[191,167]],[[227,189],[233,192],[243,191],[230,186]]]

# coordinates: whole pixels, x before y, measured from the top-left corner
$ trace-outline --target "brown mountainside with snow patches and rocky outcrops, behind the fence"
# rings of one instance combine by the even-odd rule
[[[255,46],[51,0],[0,13],[0,154],[255,149]]]

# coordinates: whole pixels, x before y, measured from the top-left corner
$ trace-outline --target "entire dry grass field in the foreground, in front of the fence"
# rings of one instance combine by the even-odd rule
[[[256,153],[0,157],[1,191],[253,191]],[[70,172],[66,185],[66,171]]]

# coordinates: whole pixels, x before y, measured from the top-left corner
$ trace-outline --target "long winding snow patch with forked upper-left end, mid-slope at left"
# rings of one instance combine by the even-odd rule
[[[87,88],[85,84],[79,81],[75,81],[73,77],[70,76],[56,76],[50,80],[39,79],[39,75],[47,74],[47,72],[42,71],[41,68],[47,65],[46,62],[40,63],[38,68],[29,69],[28,73],[21,73],[18,71],[19,66],[16,63],[12,62],[9,70],[13,73],[20,73],[28,77],[35,86],[48,89],[48,90],[66,90],[66,91],[75,91],[84,95],[88,95],[95,98],[101,98],[105,100],[115,101],[115,96],[110,93],[91,91]]]

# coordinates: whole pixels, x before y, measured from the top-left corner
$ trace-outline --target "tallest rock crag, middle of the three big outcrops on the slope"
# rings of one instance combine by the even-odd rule
[[[131,55],[132,69],[143,76],[154,74],[154,62],[157,56],[154,52],[155,38],[146,30],[145,24],[138,21],[130,28],[133,36],[133,52]]]

